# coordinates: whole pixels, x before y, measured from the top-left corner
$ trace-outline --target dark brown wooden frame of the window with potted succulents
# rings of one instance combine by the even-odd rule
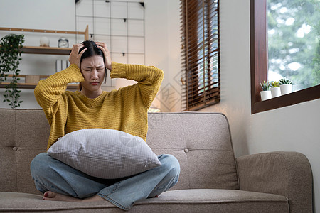
[[[320,98],[320,85],[261,101],[260,82],[267,80],[267,0],[250,0],[251,114]]]

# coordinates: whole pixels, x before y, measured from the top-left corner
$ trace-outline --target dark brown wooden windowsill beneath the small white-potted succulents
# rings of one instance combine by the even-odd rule
[[[262,102],[252,103],[251,114],[255,114],[262,111],[277,109],[280,107],[287,107],[301,102],[307,102],[314,99],[318,99],[320,94],[320,85],[284,94],[279,97],[267,99]]]

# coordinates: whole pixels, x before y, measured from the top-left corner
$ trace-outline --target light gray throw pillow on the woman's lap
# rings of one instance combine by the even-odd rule
[[[73,131],[47,152],[83,173],[104,179],[124,178],[161,165],[142,138],[113,129]]]

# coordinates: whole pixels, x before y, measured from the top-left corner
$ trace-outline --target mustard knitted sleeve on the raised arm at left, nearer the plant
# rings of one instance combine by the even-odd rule
[[[84,78],[78,66],[70,65],[67,69],[38,82],[38,85],[34,89],[34,95],[49,121],[58,109],[57,102],[65,93],[68,83],[83,81]]]

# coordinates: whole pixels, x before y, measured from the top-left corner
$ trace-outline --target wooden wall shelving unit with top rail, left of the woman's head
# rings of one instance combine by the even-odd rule
[[[85,40],[89,40],[89,26],[85,28],[85,31],[53,31],[53,30],[40,30],[40,29],[24,29],[24,28],[0,28],[0,31],[21,31],[21,32],[34,32],[34,33],[60,33],[60,34],[76,34],[84,35]],[[51,48],[51,47],[37,47],[37,46],[23,46],[22,53],[29,54],[45,54],[45,55],[69,55],[72,48]],[[19,75],[19,77],[28,77],[32,75]],[[10,75],[9,75],[10,77]],[[48,77],[48,75],[38,75],[40,79]],[[9,82],[1,82],[0,88],[6,88],[9,85]],[[25,82],[18,83],[18,88],[21,89],[34,89],[37,83]],[[78,84],[69,84],[67,89],[77,89]]]

